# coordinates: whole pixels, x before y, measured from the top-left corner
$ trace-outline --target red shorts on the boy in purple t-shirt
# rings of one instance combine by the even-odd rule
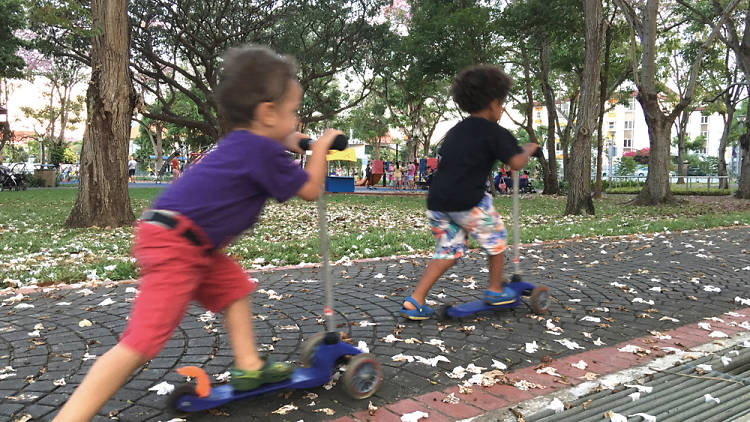
[[[147,359],[159,354],[190,302],[219,312],[252,293],[257,283],[222,252],[188,240],[183,234],[190,229],[200,243],[211,245],[190,219],[175,218],[178,225],[173,229],[148,222],[136,226],[133,250],[141,269],[140,291],[120,343]]]

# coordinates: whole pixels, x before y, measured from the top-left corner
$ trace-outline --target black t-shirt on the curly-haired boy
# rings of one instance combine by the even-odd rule
[[[445,135],[437,172],[427,194],[427,209],[465,211],[485,193],[495,160],[504,163],[523,152],[508,129],[481,117],[468,117]]]

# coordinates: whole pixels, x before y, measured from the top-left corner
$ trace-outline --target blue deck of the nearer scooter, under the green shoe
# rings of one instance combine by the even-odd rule
[[[272,391],[319,387],[331,380],[333,370],[336,368],[336,361],[340,357],[360,353],[362,351],[344,342],[331,345],[321,344],[315,353],[314,364],[309,368],[296,369],[289,379],[273,384],[264,384],[249,391],[236,391],[229,384],[212,386],[206,397],[199,397],[195,394],[183,394],[177,397],[175,408],[183,412],[197,412]]]

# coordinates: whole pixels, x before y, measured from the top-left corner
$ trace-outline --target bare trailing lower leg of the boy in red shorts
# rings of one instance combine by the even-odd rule
[[[147,361],[143,355],[122,344],[111,348],[96,360],[53,422],[90,421],[133,371]]]

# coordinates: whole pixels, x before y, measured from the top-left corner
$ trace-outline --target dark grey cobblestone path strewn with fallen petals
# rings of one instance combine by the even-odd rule
[[[750,227],[528,245],[522,256],[524,279],[549,286],[555,298],[547,319],[519,307],[461,321],[407,322],[398,309],[426,258],[334,266],[340,329],[355,344],[366,342],[385,372],[373,404],[456,385],[459,380],[446,373],[459,365],[491,369],[494,359],[510,369],[521,368],[545,356],[559,358],[601,347],[597,344],[614,345],[647,335],[648,330],[673,328],[750,304],[750,299],[744,305],[736,299],[750,298]],[[302,340],[323,329],[318,269],[255,275],[261,280],[253,296],[258,342],[274,359],[294,361]],[[478,298],[486,276],[484,257],[473,252],[446,273],[429,300],[440,304]],[[133,296],[133,284],[118,284],[0,297],[0,368],[5,368],[0,369],[0,420],[24,414],[50,419],[95,356],[116,343]],[[307,396],[309,391],[294,391],[234,402],[209,413],[184,416],[165,410],[165,396],[149,388],[162,381],[181,383],[175,368],[198,365],[213,376],[232,363],[221,318],[208,321],[203,312],[197,306],[189,309],[164,351],[107,403],[98,420],[116,415],[123,421],[168,421],[178,416],[189,421],[312,421],[367,409],[368,400],[354,401],[334,386],[311,390],[318,395],[314,399]],[[383,341],[389,335],[398,341]],[[538,350],[533,344],[527,347],[533,342]],[[393,361],[398,354],[444,356],[449,362],[439,360],[431,366],[422,359]],[[299,409],[283,416],[271,413],[290,403]],[[335,415],[320,412],[324,408]]]

